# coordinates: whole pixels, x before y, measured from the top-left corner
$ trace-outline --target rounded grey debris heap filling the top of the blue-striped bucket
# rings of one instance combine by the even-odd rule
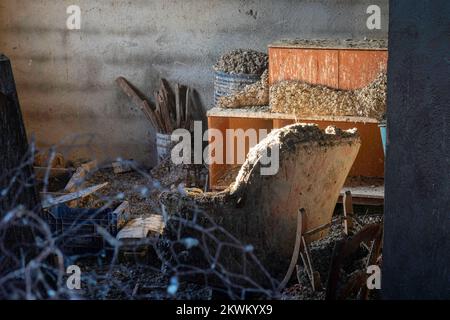
[[[231,74],[261,75],[268,65],[267,54],[250,49],[237,49],[220,57],[214,65],[214,70]]]

